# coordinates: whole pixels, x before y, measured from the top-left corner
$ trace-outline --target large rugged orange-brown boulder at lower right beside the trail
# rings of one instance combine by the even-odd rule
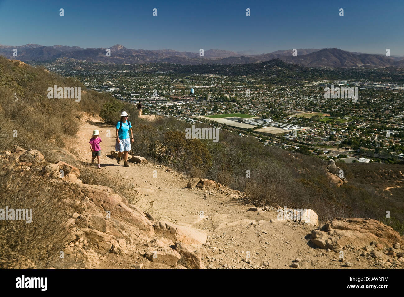
[[[374,219],[332,219],[311,233],[310,241],[321,249],[341,251],[344,246],[363,248],[370,242],[392,247],[400,234]]]

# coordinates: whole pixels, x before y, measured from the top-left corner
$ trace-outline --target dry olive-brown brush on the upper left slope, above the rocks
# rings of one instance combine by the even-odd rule
[[[55,84],[80,87],[81,101],[48,99],[47,88]],[[78,131],[79,112],[99,112],[107,97],[86,91],[78,80],[0,57],[0,149],[17,144],[45,152],[49,142],[64,147],[64,136]]]

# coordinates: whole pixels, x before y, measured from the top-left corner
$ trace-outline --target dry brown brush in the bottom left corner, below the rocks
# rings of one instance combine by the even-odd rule
[[[0,221],[0,268],[26,268],[27,259],[36,268],[55,267],[69,234],[67,220],[82,211],[73,199],[80,192],[61,180],[40,176],[35,168],[14,171],[10,164],[0,159],[1,208],[32,209],[32,223]]]

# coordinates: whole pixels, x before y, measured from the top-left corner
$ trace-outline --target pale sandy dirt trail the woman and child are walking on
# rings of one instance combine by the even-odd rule
[[[147,116],[142,116],[147,117]],[[131,121],[133,125],[135,120]],[[316,229],[293,221],[276,219],[276,211],[248,211],[234,192],[223,190],[186,189],[189,178],[153,163],[124,167],[116,159],[107,157],[115,150],[115,128],[96,118],[83,123],[79,133],[68,140],[83,152],[81,160],[90,162],[88,141],[98,129],[101,142],[100,174],[122,177],[128,187],[133,185],[141,196],[136,206],[150,213],[156,220],[191,226],[208,232],[202,257],[208,268],[291,268],[292,260],[300,258],[301,268],[343,268],[337,261],[339,254],[317,249],[305,237]],[[109,130],[112,137],[106,137]],[[151,161],[151,160],[149,160]],[[153,174],[157,172],[157,177]],[[203,217],[200,215],[203,211]],[[251,263],[244,259],[250,254]],[[345,251],[345,261],[353,268],[376,268],[357,253]],[[147,260],[146,260],[147,261]]]

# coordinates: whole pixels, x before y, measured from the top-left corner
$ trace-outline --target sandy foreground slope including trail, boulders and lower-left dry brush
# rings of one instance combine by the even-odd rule
[[[33,209],[32,223],[0,221],[1,268],[404,268],[403,238],[383,223],[279,220],[215,182],[187,188],[189,178],[165,166],[118,165],[114,137],[103,136],[113,128],[82,123],[66,139],[78,160],[63,149],[54,164],[36,150],[0,151],[2,200]],[[89,163],[95,129],[101,170]],[[68,159],[78,168],[59,162]]]

